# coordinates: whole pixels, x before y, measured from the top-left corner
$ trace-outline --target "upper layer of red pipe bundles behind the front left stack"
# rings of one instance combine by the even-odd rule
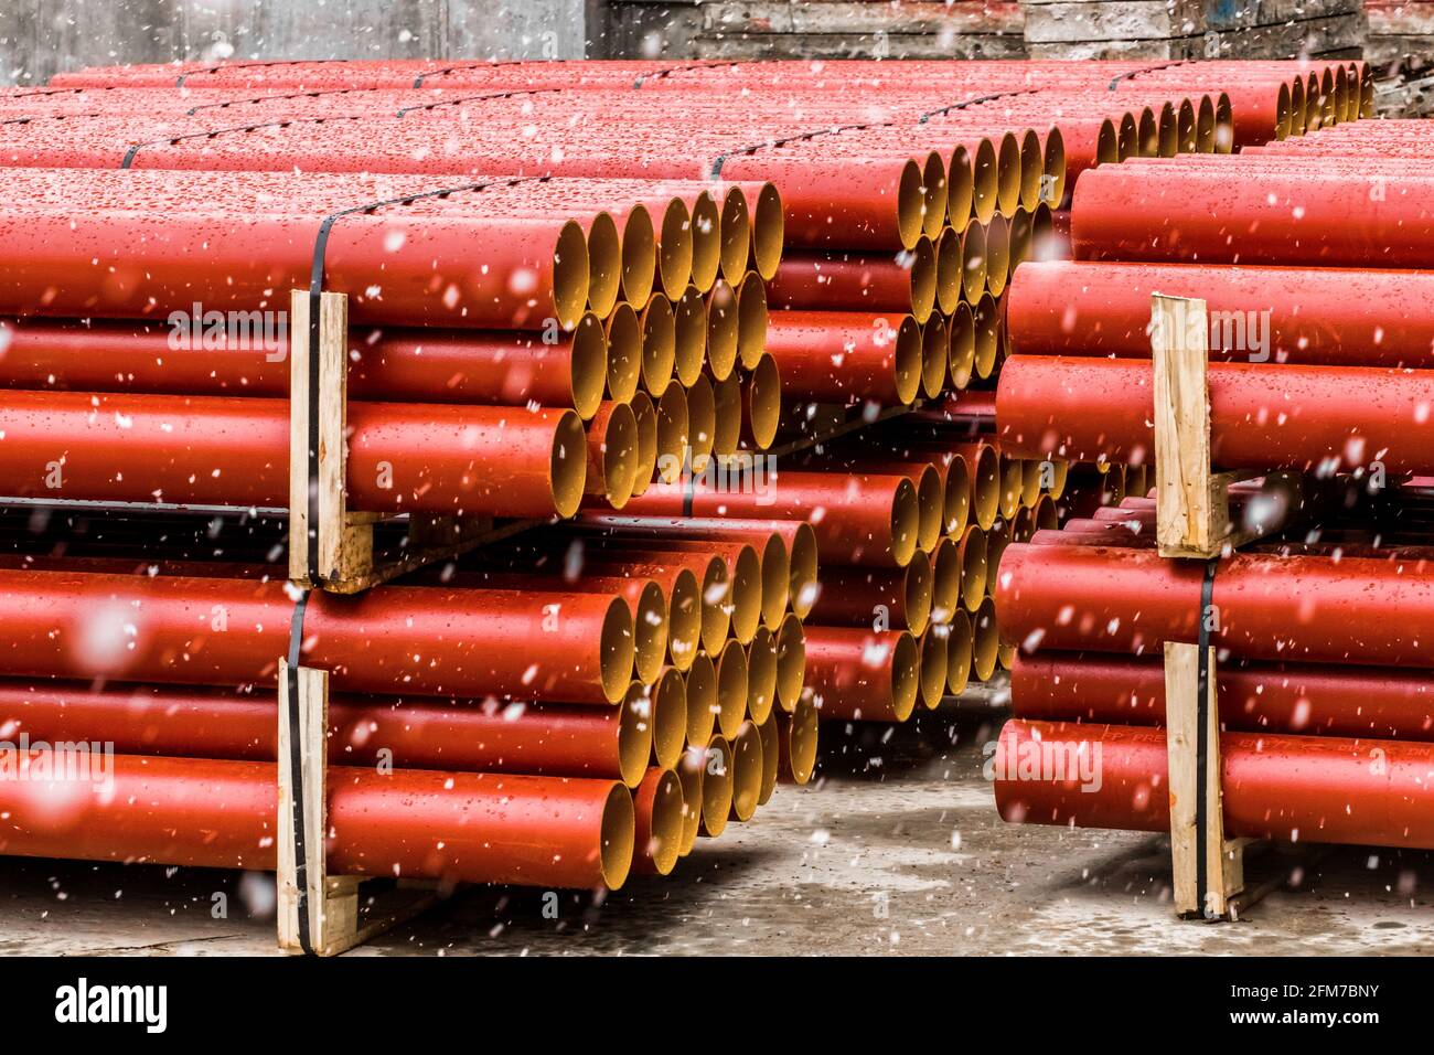
[[[889,405],[934,395],[942,346],[954,388],[991,376],[1004,346],[1011,268],[1058,251],[1054,231],[1064,221],[1050,210],[1078,174],[1127,156],[1229,151],[1233,142],[1288,135],[1291,92],[1306,79],[1326,85],[1331,100],[1338,96],[1331,121],[1355,116],[1348,85],[1368,75],[1359,63],[1276,63],[1252,80],[1242,69],[1236,106],[1223,85],[1236,69],[1202,63],[1172,75],[1139,63],[1002,62],[100,69],[57,82],[67,90],[13,95],[0,111],[11,115],[0,144],[11,165],[455,178],[675,179],[694,175],[694,156],[706,158],[698,175],[771,178],[786,198],[789,240],[800,251],[777,274],[771,297],[799,313],[773,330],[779,367],[792,367],[793,385],[800,378],[802,388],[789,393],[852,402],[875,372],[870,398]],[[776,257],[759,255],[757,270],[770,277]],[[919,372],[918,336],[928,352]],[[813,366],[813,352],[820,360],[860,359],[862,367]]]

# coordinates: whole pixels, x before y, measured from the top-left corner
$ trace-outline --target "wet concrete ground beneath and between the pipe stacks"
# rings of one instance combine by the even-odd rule
[[[354,955],[1434,952],[1434,854],[1271,851],[1252,881],[1292,883],[1248,919],[1173,919],[1162,838],[999,821],[981,775],[999,721],[823,726],[816,782],[671,877],[565,897],[558,919],[535,891],[460,890]],[[0,858],[0,953],[265,955],[271,911],[268,877]]]

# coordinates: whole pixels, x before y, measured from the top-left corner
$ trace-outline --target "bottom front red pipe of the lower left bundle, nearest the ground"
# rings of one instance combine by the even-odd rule
[[[86,779],[0,781],[0,853],[277,867],[272,764],[112,761],[106,794]],[[336,874],[618,887],[632,853],[632,800],[615,781],[336,766],[328,824]]]

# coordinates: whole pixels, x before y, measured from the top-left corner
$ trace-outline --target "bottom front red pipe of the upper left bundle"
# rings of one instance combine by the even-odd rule
[[[0,494],[288,507],[288,409],[282,399],[0,392]],[[548,517],[581,500],[571,482],[585,477],[585,436],[572,411],[354,402],[348,428],[353,510]]]

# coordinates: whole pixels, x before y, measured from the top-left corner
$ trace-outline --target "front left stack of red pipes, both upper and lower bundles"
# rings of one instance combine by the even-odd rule
[[[350,297],[353,510],[611,511],[654,472],[771,442],[759,270],[780,258],[782,208],[767,184],[10,175],[24,204],[7,210],[0,291],[14,316],[9,497],[287,505],[284,296],[311,270]],[[761,553],[810,574],[810,548],[799,535],[789,554],[779,533]],[[721,555],[708,541],[693,558],[703,550]],[[272,554],[161,568],[139,553],[4,561],[19,576],[0,587],[6,721],[33,744],[103,733],[119,794],[11,784],[0,851],[274,867],[272,834],[252,833],[275,827],[272,686],[293,594],[270,578]],[[800,622],[720,643],[718,669],[697,647],[698,606],[727,613],[691,571],[660,586],[619,566],[581,586],[523,568],[502,589],[315,596],[303,660],[354,693],[331,712],[346,739],[330,751],[330,867],[618,887],[630,867],[671,871],[700,828],[747,820],[779,772],[804,782],[816,713],[800,699]],[[201,609],[212,619],[194,630]],[[231,614],[242,640],[224,637]],[[54,647],[17,659],[30,636]],[[736,675],[743,721],[723,738],[711,700]],[[373,772],[379,755],[397,768]],[[50,758],[37,748],[26,765]],[[145,810],[112,807],[136,798]]]

